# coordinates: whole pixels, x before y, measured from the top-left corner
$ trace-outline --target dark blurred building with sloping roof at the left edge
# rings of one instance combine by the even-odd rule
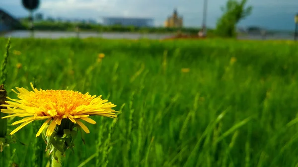
[[[22,25],[17,19],[0,9],[0,32],[21,27]]]

